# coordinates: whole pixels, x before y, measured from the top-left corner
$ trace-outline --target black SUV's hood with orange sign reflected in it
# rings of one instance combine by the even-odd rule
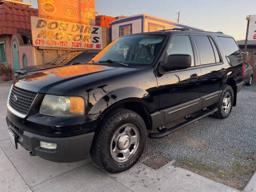
[[[64,95],[68,90],[85,87],[93,81],[114,76],[134,68],[102,65],[64,66],[38,71],[15,81],[14,86],[37,93]],[[76,95],[76,93],[74,93]]]

